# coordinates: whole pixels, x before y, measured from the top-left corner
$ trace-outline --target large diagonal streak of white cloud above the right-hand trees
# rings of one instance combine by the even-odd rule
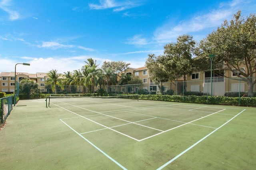
[[[218,9],[213,9],[207,14],[196,14],[190,20],[180,21],[177,25],[167,22],[156,29],[153,39],[157,43],[170,43],[176,41],[179,35],[200,35],[206,29],[216,29],[224,20],[230,20],[246,3],[242,0],[233,0],[226,4],[221,3]]]

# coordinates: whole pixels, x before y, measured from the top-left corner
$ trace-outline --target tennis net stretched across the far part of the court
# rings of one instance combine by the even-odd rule
[[[85,105],[85,104],[134,102],[134,101],[138,101],[138,94],[123,95],[123,96],[79,96],[78,94],[62,94],[62,95],[50,95],[48,98],[46,98],[46,107],[50,106],[50,103]]]

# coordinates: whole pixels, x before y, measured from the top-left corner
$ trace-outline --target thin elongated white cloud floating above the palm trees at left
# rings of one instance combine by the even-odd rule
[[[83,47],[83,46],[80,46],[80,45],[61,44],[61,43],[58,43],[56,41],[42,41],[41,45],[36,45],[36,46],[39,47],[39,48],[50,48],[50,49],[54,49],[54,50],[55,49],[61,49],[61,48],[64,48],[64,49],[78,48],[78,49],[83,49],[85,51],[95,51],[92,48]]]

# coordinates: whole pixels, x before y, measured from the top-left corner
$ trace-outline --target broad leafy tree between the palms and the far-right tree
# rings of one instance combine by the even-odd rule
[[[192,56],[196,42],[190,35],[182,35],[177,38],[176,43],[169,43],[164,46],[164,55],[156,57],[148,55],[146,66],[150,72],[151,80],[155,82],[166,82],[172,80],[178,91],[178,78],[192,73]]]

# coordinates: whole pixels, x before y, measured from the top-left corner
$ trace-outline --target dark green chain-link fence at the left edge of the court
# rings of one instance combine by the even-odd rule
[[[6,118],[12,111],[12,96],[0,99],[0,119],[1,125],[6,121]]]

